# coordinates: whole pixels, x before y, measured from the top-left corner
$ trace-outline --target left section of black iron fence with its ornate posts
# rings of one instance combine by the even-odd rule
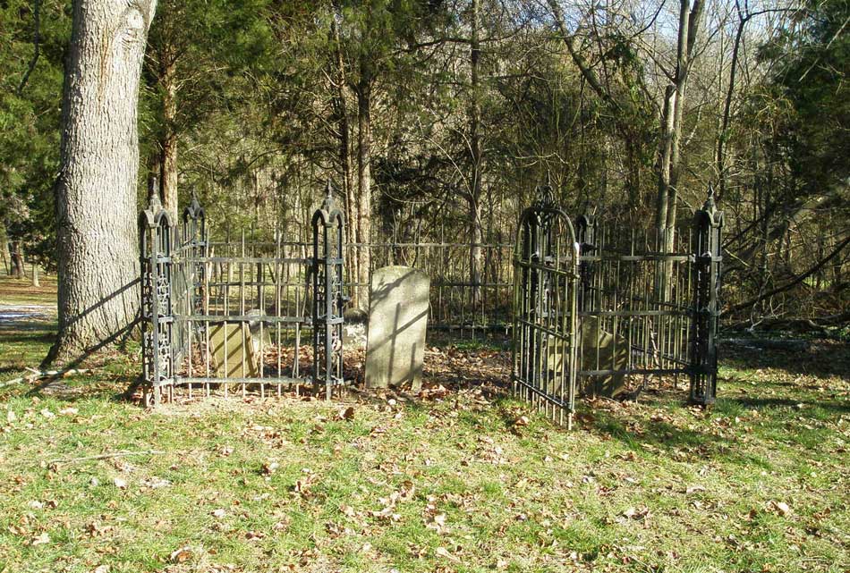
[[[343,379],[344,215],[330,184],[312,243],[209,239],[193,198],[175,224],[157,193],[139,217],[142,383],[146,403]],[[306,338],[310,337],[310,338]],[[310,340],[311,344],[305,344]]]

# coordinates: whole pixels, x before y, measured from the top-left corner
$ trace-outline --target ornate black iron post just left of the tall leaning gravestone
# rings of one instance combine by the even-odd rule
[[[343,307],[345,217],[336,207],[333,188],[316,210],[313,226],[313,383],[324,382],[328,400],[343,379]]]

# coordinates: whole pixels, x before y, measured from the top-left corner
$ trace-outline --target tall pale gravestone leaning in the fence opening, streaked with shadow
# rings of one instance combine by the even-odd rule
[[[422,360],[428,325],[430,279],[409,266],[385,266],[372,273],[366,386],[409,383],[422,387]]]

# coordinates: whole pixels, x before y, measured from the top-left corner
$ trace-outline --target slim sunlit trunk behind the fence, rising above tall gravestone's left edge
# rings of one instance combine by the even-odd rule
[[[358,293],[361,308],[366,308],[369,301],[369,268],[371,253],[369,249],[372,216],[371,190],[371,85],[370,80],[362,78],[357,87],[357,173],[358,173],[358,206],[357,206],[357,240],[362,244],[358,253],[357,282],[366,284]]]

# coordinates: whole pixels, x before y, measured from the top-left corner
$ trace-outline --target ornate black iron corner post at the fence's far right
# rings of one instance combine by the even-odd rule
[[[701,406],[717,398],[718,320],[720,316],[720,265],[723,212],[709,190],[705,205],[694,214],[696,241],[693,253],[693,317],[691,320],[690,401]]]

